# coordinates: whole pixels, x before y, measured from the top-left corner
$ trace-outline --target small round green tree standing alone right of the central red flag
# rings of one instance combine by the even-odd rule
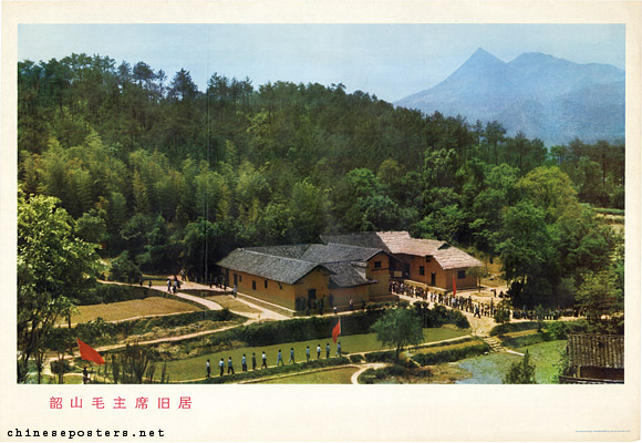
[[[392,346],[396,349],[396,361],[406,346],[420,344],[424,340],[422,320],[413,309],[387,310],[372,326],[372,330],[383,346]]]

